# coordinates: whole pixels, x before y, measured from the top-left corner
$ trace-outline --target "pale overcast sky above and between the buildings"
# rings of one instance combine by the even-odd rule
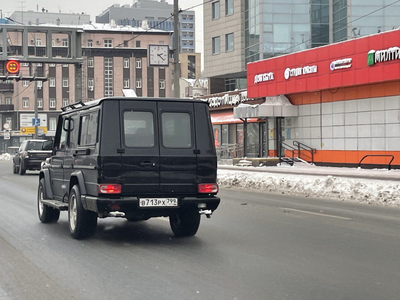
[[[22,1],[22,0],[21,0]],[[3,12],[3,16],[11,16],[12,12],[15,10],[21,10],[21,1],[14,0],[1,0],[0,1],[0,10]],[[168,3],[173,4],[174,0],[167,0]],[[179,7],[181,9],[190,8],[192,6],[201,4],[202,0],[179,0]],[[34,10],[36,11],[36,5],[39,5],[39,10],[44,7],[49,12],[75,12],[81,13],[85,12],[86,14],[90,14],[90,19],[94,22],[96,20],[96,16],[100,14],[102,11],[106,10],[112,4],[130,4],[132,5],[133,0],[25,0],[22,2],[22,6],[24,6],[23,10]],[[194,8],[196,13],[196,52],[203,53],[203,6],[200,5]],[[203,63],[203,55],[202,55],[202,65]]]

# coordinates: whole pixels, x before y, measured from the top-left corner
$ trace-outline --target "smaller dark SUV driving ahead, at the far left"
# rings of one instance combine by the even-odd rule
[[[52,141],[25,140],[18,150],[14,150],[12,172],[24,175],[26,170],[40,170],[40,165],[52,155]]]

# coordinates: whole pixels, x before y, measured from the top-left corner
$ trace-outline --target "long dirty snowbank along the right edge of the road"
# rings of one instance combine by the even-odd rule
[[[272,193],[400,206],[400,184],[389,180],[218,170],[218,184],[258,188]]]

